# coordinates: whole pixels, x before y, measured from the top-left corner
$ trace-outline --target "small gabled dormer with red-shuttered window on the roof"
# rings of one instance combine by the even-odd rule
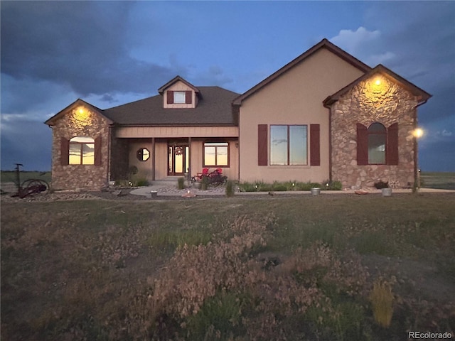
[[[198,105],[199,89],[177,76],[159,88],[163,97],[163,107],[168,109],[196,108]]]

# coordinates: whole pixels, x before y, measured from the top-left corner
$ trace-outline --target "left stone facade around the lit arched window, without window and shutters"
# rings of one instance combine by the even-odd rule
[[[87,107],[70,107],[53,124],[52,187],[55,190],[96,190],[107,185],[109,177],[109,122]],[[101,139],[101,165],[63,165],[61,141],[75,136]],[[65,157],[65,156],[64,156]]]

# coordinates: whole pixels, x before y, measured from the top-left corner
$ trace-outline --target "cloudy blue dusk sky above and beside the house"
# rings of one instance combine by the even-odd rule
[[[50,171],[43,122],[176,75],[243,93],[323,38],[432,94],[419,168],[455,171],[455,1],[0,1],[1,169]]]

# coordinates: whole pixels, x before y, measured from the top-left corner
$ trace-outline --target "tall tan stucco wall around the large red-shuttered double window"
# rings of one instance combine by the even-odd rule
[[[247,97],[240,107],[240,181],[327,180],[328,109],[322,102],[361,75],[357,68],[321,49]],[[320,124],[321,166],[257,166],[258,124],[306,124],[308,133],[310,124]],[[308,142],[308,163],[309,157]]]

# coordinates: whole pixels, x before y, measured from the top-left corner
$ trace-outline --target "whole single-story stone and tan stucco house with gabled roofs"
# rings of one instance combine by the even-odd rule
[[[430,94],[323,39],[244,94],[175,77],[99,109],[77,99],[53,129],[53,187],[90,188],[223,168],[232,180],[412,185],[417,107]]]

